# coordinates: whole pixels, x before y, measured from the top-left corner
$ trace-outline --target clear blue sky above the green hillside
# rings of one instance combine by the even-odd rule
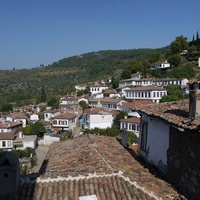
[[[0,69],[190,41],[199,19],[200,0],[0,0]]]

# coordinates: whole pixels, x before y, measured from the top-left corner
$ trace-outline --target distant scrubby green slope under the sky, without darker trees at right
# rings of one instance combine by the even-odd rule
[[[148,59],[160,49],[104,50],[63,58],[48,66],[33,69],[0,71],[0,104],[36,98],[42,85],[49,96],[67,94],[76,83],[100,81],[111,75],[120,76],[128,61]]]

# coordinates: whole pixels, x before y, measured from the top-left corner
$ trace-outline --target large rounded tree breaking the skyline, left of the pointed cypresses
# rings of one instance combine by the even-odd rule
[[[170,44],[171,55],[180,54],[183,50],[188,49],[187,38],[184,36],[178,36]]]

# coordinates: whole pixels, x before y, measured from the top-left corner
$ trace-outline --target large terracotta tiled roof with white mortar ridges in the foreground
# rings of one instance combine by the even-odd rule
[[[22,179],[21,199],[179,199],[111,137],[83,135],[50,146],[40,177]],[[32,177],[33,178],[33,177]],[[26,197],[26,198],[24,198]]]

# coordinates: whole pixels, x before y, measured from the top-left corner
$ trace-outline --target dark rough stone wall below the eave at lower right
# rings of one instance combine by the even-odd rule
[[[188,199],[200,199],[200,133],[170,128],[168,178]]]

